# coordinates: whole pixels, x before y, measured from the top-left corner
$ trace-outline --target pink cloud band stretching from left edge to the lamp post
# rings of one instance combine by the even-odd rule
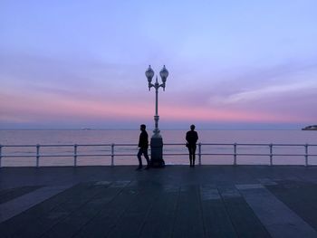
[[[153,110],[146,103],[128,101],[72,100],[51,95],[2,95],[1,120],[21,119],[140,119],[150,117]]]

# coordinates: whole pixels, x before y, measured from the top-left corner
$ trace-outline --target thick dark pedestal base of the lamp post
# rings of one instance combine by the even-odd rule
[[[165,167],[163,159],[163,139],[159,133],[154,133],[150,139],[150,165],[151,167]]]

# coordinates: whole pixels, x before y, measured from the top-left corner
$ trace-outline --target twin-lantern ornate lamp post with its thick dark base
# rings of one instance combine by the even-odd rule
[[[145,76],[147,76],[149,81],[149,90],[151,88],[155,89],[155,129],[153,130],[153,136],[150,139],[150,149],[151,149],[151,166],[152,167],[164,167],[165,162],[163,160],[163,138],[159,134],[159,88],[163,88],[165,90],[165,82],[168,78],[168,70],[163,66],[163,69],[159,71],[159,76],[162,80],[162,83],[159,84],[158,76],[156,77],[155,83],[152,83],[152,79],[154,76],[154,71],[151,69],[149,65],[149,69],[145,71]]]

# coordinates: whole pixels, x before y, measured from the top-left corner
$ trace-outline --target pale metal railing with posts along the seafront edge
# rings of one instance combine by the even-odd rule
[[[168,147],[182,147],[180,152],[173,153],[168,152],[170,149],[166,149]],[[124,153],[116,150],[116,148],[127,148],[131,147],[130,151],[133,153]],[[132,148],[133,147],[133,148]],[[208,147],[216,147],[216,148],[209,148],[207,152],[204,152],[204,148]],[[296,150],[302,150],[303,152],[296,152],[296,153],[278,153],[275,152],[277,148],[297,148]],[[14,151],[5,151],[5,148],[34,148],[34,152],[28,151],[27,154],[21,152],[21,150],[14,150]],[[43,148],[71,148],[71,151],[68,153],[53,153],[47,154],[43,152]],[[79,152],[79,148],[103,148],[101,151],[106,153],[89,153],[89,151],[84,151],[84,153]],[[229,152],[221,152],[220,150],[226,150]],[[240,152],[240,149],[246,152]],[[260,149],[260,152],[254,152]],[[267,150],[267,152],[262,152]],[[312,151],[311,151],[312,149]],[[231,150],[231,152],[230,152]],[[248,152],[248,151],[252,152]],[[213,152],[215,151],[215,152]],[[87,144],[87,145],[80,145],[80,144],[68,144],[68,145],[0,145],[0,167],[2,167],[2,159],[5,157],[35,157],[35,167],[40,167],[40,158],[41,157],[72,157],[73,158],[73,166],[78,166],[78,157],[110,157],[110,166],[115,165],[115,157],[135,157],[137,153],[137,144]],[[167,143],[164,144],[163,148],[163,156],[164,157],[178,157],[178,156],[187,156],[187,149],[185,148],[184,143]],[[197,144],[197,157],[198,157],[198,165],[202,165],[202,158],[203,157],[210,157],[210,156],[230,156],[233,157],[232,164],[234,166],[238,165],[237,158],[238,157],[268,157],[269,162],[267,165],[273,166],[274,165],[274,157],[303,157],[304,163],[303,166],[313,166],[317,164],[310,164],[309,158],[310,157],[317,157],[317,145],[312,144],[255,144],[255,143],[198,143]]]

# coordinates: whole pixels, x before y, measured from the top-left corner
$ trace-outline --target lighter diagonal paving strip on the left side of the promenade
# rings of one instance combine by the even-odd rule
[[[21,214],[27,209],[37,205],[44,200],[57,195],[62,191],[70,188],[72,185],[68,186],[43,186],[39,189],[34,190],[31,193],[21,195],[14,198],[2,205],[0,205],[0,223],[14,217],[17,214]]]

